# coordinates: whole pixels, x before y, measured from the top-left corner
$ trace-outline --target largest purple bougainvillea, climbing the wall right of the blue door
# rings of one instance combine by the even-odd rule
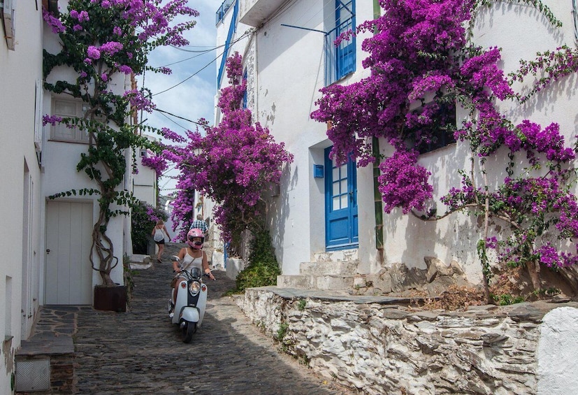
[[[560,26],[542,2],[519,2],[539,9],[553,27]],[[438,220],[471,210],[484,218],[478,253],[488,301],[488,248],[496,248],[501,261],[527,267],[536,288],[540,265],[560,268],[578,261],[578,206],[572,193],[577,146],[565,146],[556,122],[547,127],[531,120],[512,122],[496,105],[506,100],[526,103],[556,80],[575,73],[578,52],[562,47],[540,53],[534,61],[521,62],[516,73],[504,76],[498,67],[500,50],[476,47],[468,39],[475,22],[472,15],[493,3],[380,1],[383,15],[358,28],[358,32],[375,33],[362,45],[369,53],[363,66],[371,69],[370,77],[321,89],[319,108],[311,115],[319,122],[331,122],[327,133],[334,144],[332,155],[340,163],[348,155],[356,157],[359,166],[373,162],[367,143],[373,137],[393,146],[393,155],[380,164],[379,188],[386,213],[400,208],[424,220]],[[514,82],[525,82],[527,92],[514,92]],[[451,117],[456,103],[469,113],[458,128]],[[419,155],[440,133],[468,144],[472,166],[461,171],[461,186],[442,199],[449,208],[445,215],[420,215],[416,211],[427,210],[433,187]],[[503,152],[508,157],[507,176],[489,180],[487,159]],[[520,158],[520,154],[525,155]],[[524,158],[526,164],[516,166]],[[496,182],[498,187],[492,189]],[[507,231],[492,236],[491,221],[505,222]]]

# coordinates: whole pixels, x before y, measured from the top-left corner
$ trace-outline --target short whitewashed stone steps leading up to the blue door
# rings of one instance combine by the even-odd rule
[[[314,254],[313,261],[301,262],[298,275],[278,275],[277,287],[323,290],[352,289],[358,264],[357,250]]]

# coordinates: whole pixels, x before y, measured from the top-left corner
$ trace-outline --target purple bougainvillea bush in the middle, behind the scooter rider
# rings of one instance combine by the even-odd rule
[[[217,127],[204,124],[204,136],[189,131],[187,147],[175,158],[181,171],[176,220],[186,220],[192,209],[190,191],[196,189],[217,203],[215,222],[226,241],[238,242],[245,229],[258,229],[265,215],[263,192],[279,182],[282,166],[293,156],[275,143],[268,129],[242,108],[245,80],[238,53],[226,61],[229,87],[221,89],[218,106],[222,121]]]

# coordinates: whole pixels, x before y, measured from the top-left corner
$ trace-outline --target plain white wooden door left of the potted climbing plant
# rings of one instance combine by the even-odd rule
[[[49,201],[47,213],[45,303],[92,304],[92,203]]]

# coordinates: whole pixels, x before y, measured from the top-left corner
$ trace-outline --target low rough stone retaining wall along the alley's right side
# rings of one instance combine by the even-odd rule
[[[279,338],[282,350],[366,394],[537,394],[542,319],[562,306],[449,312],[358,302],[287,298],[274,287],[247,289],[237,299],[254,324]],[[578,311],[578,303],[563,306]],[[564,347],[565,338],[556,342]],[[564,364],[568,374],[576,371],[570,358],[542,375],[551,376],[549,368],[564,375]]]

